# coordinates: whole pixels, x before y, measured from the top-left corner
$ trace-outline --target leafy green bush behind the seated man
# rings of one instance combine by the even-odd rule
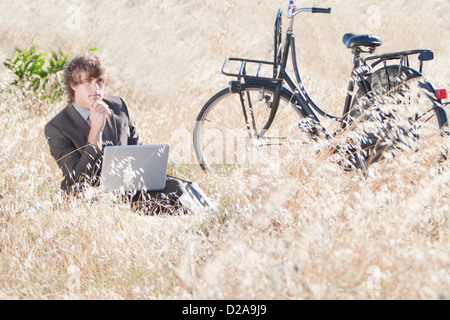
[[[68,56],[61,50],[50,54],[38,52],[36,46],[29,49],[15,48],[15,53],[3,62],[15,78],[11,86],[23,94],[33,93],[41,99],[56,100],[64,94],[63,71]]]

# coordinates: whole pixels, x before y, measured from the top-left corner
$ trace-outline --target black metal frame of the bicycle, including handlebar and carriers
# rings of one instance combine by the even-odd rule
[[[432,60],[433,59],[433,52],[431,50],[410,50],[410,51],[403,51],[403,52],[397,52],[397,53],[388,53],[378,56],[369,56],[365,59],[361,57],[362,53],[370,53],[372,54],[374,51],[374,48],[369,48],[368,51],[363,51],[360,47],[354,48],[352,50],[354,54],[353,58],[353,69],[351,72],[351,77],[348,84],[348,94],[346,96],[345,102],[344,102],[344,108],[342,112],[342,116],[334,116],[331,115],[324,110],[322,110],[311,98],[309,93],[307,92],[305,86],[303,85],[300,72],[298,69],[298,63],[297,63],[297,55],[296,55],[296,48],[295,48],[295,37],[293,33],[293,23],[294,23],[294,16],[297,15],[300,12],[313,12],[313,13],[330,13],[331,9],[322,9],[322,8],[301,8],[298,10],[295,10],[295,7],[293,6],[293,1],[290,1],[290,5],[288,8],[288,19],[290,19],[290,23],[288,26],[288,29],[286,31],[286,37],[285,37],[285,43],[284,48],[281,48],[281,21],[282,21],[282,10],[279,9],[276,17],[275,22],[275,39],[274,39],[274,61],[268,62],[268,61],[261,61],[261,60],[250,60],[250,59],[242,59],[242,58],[228,58],[225,60],[223,67],[222,67],[222,73],[227,76],[235,76],[237,77],[237,81],[231,81],[229,84],[230,91],[233,93],[239,93],[241,95],[241,104],[244,112],[245,121],[247,122],[247,129],[249,129],[250,132],[250,122],[247,117],[246,111],[245,111],[245,104],[244,104],[244,97],[242,96],[242,90],[245,88],[246,84],[255,84],[255,85],[265,85],[265,86],[271,86],[274,89],[274,98],[271,105],[271,111],[269,118],[264,125],[263,129],[256,133],[256,138],[260,139],[264,137],[264,134],[267,132],[267,130],[270,128],[271,124],[273,123],[273,120],[275,119],[275,116],[278,111],[279,102],[280,102],[280,95],[282,90],[286,90],[287,88],[283,86],[284,83],[287,84],[290,91],[288,92],[289,96],[291,96],[291,100],[295,102],[293,107],[302,114],[305,118],[309,118],[312,120],[316,125],[319,125],[321,123],[318,115],[322,117],[327,117],[330,119],[333,119],[335,121],[341,122],[341,128],[346,127],[346,120],[347,116],[350,113],[352,101],[353,101],[353,92],[355,89],[355,86],[362,88],[365,93],[369,92],[371,90],[370,85],[367,83],[366,79],[367,76],[372,72],[371,68],[375,67],[376,65],[383,63],[384,67],[387,68],[386,62],[388,60],[395,60],[399,59],[399,68],[409,68],[409,56],[413,54],[419,54],[419,61],[420,61],[420,72],[422,72],[422,66],[424,61]],[[286,70],[287,67],[287,61],[289,58],[289,53],[291,54],[292,58],[292,67],[295,74],[295,80],[289,75],[289,73]],[[375,60],[375,62],[372,63],[372,65],[369,65],[369,61]],[[225,71],[226,65],[229,61],[240,61],[241,66],[239,68],[238,73],[230,73]],[[248,75],[246,72],[247,64],[258,64],[258,71],[255,76]],[[273,65],[273,77],[261,77],[259,75],[259,72],[261,70],[261,67],[263,65]],[[401,70],[399,70],[401,71]],[[244,82],[242,82],[242,79]],[[252,114],[252,106],[249,106],[250,108],[250,115]],[[324,129],[325,131],[325,129]]]

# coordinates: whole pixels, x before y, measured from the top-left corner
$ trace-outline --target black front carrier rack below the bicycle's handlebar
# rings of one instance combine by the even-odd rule
[[[274,63],[269,61],[228,58],[223,63],[222,74],[244,79],[277,81],[273,77],[273,67]]]

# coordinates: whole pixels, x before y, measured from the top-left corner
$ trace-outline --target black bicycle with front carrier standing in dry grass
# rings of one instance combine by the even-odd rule
[[[330,139],[340,132],[354,129],[358,123],[375,120],[381,124],[378,129],[365,132],[359,141],[347,143],[349,147],[337,146],[334,149],[334,152],[345,149],[347,161],[343,163],[346,168],[362,169],[365,173],[367,166],[378,161],[386,150],[409,144],[401,135],[417,139],[417,129],[430,125],[441,135],[448,135],[446,90],[436,90],[422,75],[423,63],[434,59],[433,51],[417,49],[373,55],[382,43],[375,35],[348,33],[343,37],[344,44],[352,50],[353,69],[342,115],[328,114],[317,106],[298,70],[293,24],[294,18],[302,12],[330,14],[331,8],[297,9],[294,0],[290,0],[284,46],[282,9],[276,15],[273,61],[225,60],[222,74],[236,79],[206,102],[195,123],[194,150],[202,169],[215,174],[226,173],[235,165],[259,161],[261,153],[252,150],[288,146],[300,139],[303,133],[309,140]],[[289,54],[296,82],[286,70]],[[363,54],[369,56],[364,58]],[[410,57],[414,55],[418,57],[419,71],[410,66]],[[382,66],[374,71],[380,64]],[[409,100],[410,104],[412,98],[417,98],[417,92],[408,96],[413,83],[427,101],[421,103],[420,110],[404,118],[409,127],[404,124],[394,127],[393,119],[400,114],[398,97]],[[380,97],[393,99],[390,109],[382,108],[386,103],[379,103]],[[319,116],[339,122],[339,129],[329,133]]]

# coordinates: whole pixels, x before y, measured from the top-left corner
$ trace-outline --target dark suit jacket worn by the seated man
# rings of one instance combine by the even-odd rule
[[[120,97],[103,99],[111,109],[106,119],[109,140],[113,145],[142,144],[136,123]],[[67,105],[45,126],[50,153],[61,168],[61,188],[70,191],[84,183],[95,185],[101,171],[103,151],[87,143],[89,125],[73,107]]]

